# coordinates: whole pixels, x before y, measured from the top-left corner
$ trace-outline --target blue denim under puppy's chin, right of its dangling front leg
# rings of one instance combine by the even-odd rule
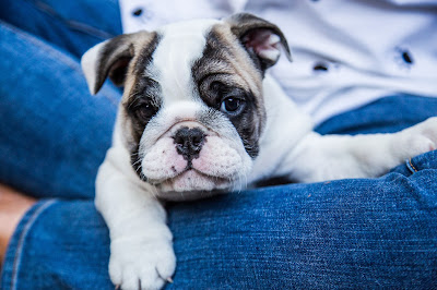
[[[169,208],[173,289],[430,289],[437,152],[417,172],[267,188]],[[405,170],[405,166],[399,168]]]

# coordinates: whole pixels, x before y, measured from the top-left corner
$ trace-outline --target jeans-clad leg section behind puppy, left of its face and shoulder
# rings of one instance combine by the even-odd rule
[[[91,96],[79,62],[0,22],[0,183],[92,198],[120,93]]]

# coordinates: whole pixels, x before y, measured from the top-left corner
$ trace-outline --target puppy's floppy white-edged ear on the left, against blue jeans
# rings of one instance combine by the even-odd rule
[[[115,85],[122,86],[129,63],[135,55],[134,40],[151,39],[153,35],[149,32],[123,34],[87,50],[82,56],[81,65],[91,94],[97,94],[108,76]]]

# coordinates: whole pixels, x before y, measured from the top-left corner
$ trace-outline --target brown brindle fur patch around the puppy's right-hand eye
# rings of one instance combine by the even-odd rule
[[[206,35],[203,56],[193,63],[191,72],[200,97],[214,109],[220,109],[223,100],[221,92],[245,95],[244,111],[235,117],[229,116],[229,120],[248,154],[257,156],[258,141],[265,122],[262,72],[257,69],[227,23],[214,25]]]

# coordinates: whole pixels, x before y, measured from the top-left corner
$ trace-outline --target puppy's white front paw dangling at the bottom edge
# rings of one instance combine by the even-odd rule
[[[172,281],[176,257],[167,239],[115,240],[110,252],[110,279],[123,290],[161,289]]]

